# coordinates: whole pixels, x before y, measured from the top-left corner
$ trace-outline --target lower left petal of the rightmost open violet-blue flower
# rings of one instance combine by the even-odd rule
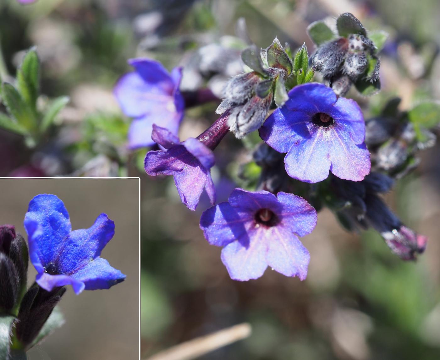
[[[289,149],[284,164],[291,178],[302,182],[315,183],[329,175],[329,132],[319,127],[310,139],[295,143]]]

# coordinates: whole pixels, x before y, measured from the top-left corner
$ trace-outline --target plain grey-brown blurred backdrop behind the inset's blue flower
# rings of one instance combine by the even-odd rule
[[[139,179],[0,179],[0,218],[27,240],[23,220],[29,201],[40,193],[58,196],[72,229],[87,229],[105,212],[115,235],[102,252],[127,275],[108,290],[67,288],[59,307],[66,320],[28,353],[29,360],[139,358]],[[28,284],[37,272],[29,263]]]

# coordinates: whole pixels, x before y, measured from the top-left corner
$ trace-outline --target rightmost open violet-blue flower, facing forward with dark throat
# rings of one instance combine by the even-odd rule
[[[289,91],[289,100],[264,122],[260,137],[287,153],[287,173],[303,182],[323,181],[329,171],[341,179],[361,181],[370,172],[359,105],[337,98],[323,84],[303,84]]]

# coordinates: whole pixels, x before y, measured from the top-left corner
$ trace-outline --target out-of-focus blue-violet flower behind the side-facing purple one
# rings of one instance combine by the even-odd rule
[[[114,95],[125,115],[134,118],[128,130],[129,147],[154,145],[153,124],[177,135],[185,107],[179,91],[182,69],[174,68],[169,73],[161,63],[147,58],[132,59],[128,63],[135,71],[121,77]]]

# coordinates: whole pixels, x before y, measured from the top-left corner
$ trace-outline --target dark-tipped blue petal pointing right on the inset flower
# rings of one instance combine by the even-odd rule
[[[85,290],[110,289],[125,280],[125,275],[103,258],[95,258],[72,277],[85,284]],[[76,291],[75,291],[76,292]],[[78,294],[78,293],[77,293]]]

